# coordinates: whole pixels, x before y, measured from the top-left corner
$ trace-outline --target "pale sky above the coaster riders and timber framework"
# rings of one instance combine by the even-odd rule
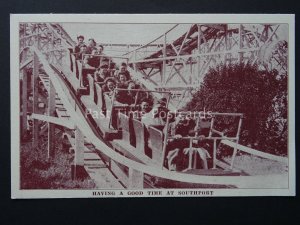
[[[138,21],[137,21],[138,22]],[[159,38],[155,44],[163,44],[163,34],[167,34],[167,43],[171,43],[182,36],[192,24],[104,24],[104,23],[61,23],[63,28],[77,41],[77,36],[83,35],[85,42],[94,38],[98,44],[139,44],[144,45]],[[252,25],[246,25],[252,26]],[[239,24],[229,24],[229,29],[238,28]],[[255,26],[256,27],[256,26]],[[261,27],[261,26],[258,26]],[[287,26],[281,26],[277,31],[280,39],[287,40]],[[255,30],[255,28],[252,28]],[[123,55],[125,52],[135,49],[124,47],[105,47],[104,53],[108,55]],[[155,50],[156,51],[156,50]]]

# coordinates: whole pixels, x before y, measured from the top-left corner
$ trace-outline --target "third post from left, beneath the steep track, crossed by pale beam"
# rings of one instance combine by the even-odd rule
[[[55,116],[55,89],[49,80],[48,115]],[[48,122],[48,160],[55,156],[55,125]]]

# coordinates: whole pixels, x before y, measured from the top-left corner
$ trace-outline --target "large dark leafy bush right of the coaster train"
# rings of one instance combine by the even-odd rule
[[[186,110],[244,114],[240,143],[274,154],[287,154],[287,76],[257,65],[219,65],[204,77]],[[217,128],[234,133],[232,119]]]

